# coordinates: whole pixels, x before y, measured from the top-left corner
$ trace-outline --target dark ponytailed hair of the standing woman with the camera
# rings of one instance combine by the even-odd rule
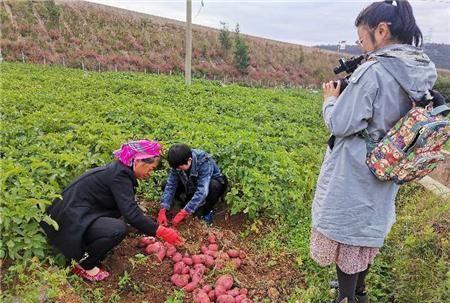
[[[380,22],[389,24],[392,38],[403,44],[421,46],[422,32],[416,24],[416,19],[408,1],[374,2],[363,9],[355,20],[355,26],[367,25],[375,28]]]

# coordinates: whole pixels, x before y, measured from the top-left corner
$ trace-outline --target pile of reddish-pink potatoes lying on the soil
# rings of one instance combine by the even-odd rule
[[[230,262],[238,269],[246,254],[242,250],[219,250],[216,236],[208,236],[208,244],[201,247],[201,253],[190,256],[177,251],[176,247],[169,243],[161,243],[153,237],[139,239],[139,247],[144,248],[146,254],[155,254],[159,262],[164,258],[171,258],[175,262],[173,266],[172,283],[186,292],[192,292],[196,303],[251,303],[247,298],[246,288],[233,287],[234,279],[231,275],[222,275],[217,278],[212,286],[205,283],[203,276],[208,270],[221,269]]]

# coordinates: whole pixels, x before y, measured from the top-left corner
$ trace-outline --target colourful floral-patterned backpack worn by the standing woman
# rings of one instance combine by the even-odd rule
[[[412,109],[379,141],[374,142],[364,130],[367,142],[366,164],[381,181],[403,184],[420,179],[444,161],[441,150],[450,137],[450,122],[444,113],[447,105]]]

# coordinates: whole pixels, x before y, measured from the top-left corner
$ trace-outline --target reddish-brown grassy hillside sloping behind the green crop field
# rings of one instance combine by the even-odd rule
[[[183,22],[81,1],[2,1],[0,16],[6,61],[89,70],[184,69]],[[193,27],[194,76],[270,86],[317,86],[334,77],[338,54],[245,35],[250,65],[241,73],[233,49],[222,49],[218,36],[216,29]]]

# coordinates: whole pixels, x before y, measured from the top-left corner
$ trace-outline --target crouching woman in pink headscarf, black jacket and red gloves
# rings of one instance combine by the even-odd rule
[[[123,144],[114,152],[115,161],[84,173],[48,207],[58,229],[45,222],[41,226],[50,243],[77,262],[75,274],[89,281],[107,278],[110,274],[100,262],[125,238],[127,223],[149,236],[181,244],[174,230],[147,217],[135,200],[137,180],[150,177],[161,161],[160,153],[156,141]]]

